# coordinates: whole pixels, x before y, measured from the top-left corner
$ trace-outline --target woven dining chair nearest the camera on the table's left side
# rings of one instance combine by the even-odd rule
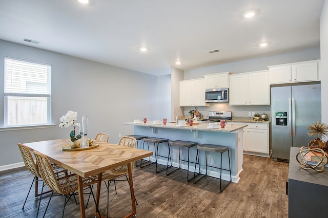
[[[35,159],[36,159],[36,163],[38,165],[39,174],[40,174],[40,176],[41,176],[41,178],[44,182],[44,184],[42,186],[42,189],[44,188],[45,185],[47,185],[52,190],[43,217],[45,217],[45,215],[46,215],[50,200],[51,200],[54,192],[65,196],[65,201],[64,201],[64,206],[63,206],[63,213],[61,215],[61,217],[64,217],[65,205],[70,200],[72,195],[74,195],[75,191],[77,191],[77,189],[78,189],[77,175],[75,173],[72,173],[70,175],[57,178],[55,176],[53,170],[52,170],[51,163],[50,163],[49,159],[47,158],[47,156],[45,156],[44,154],[42,154],[40,152],[37,152],[36,150],[34,150],[33,153],[34,153],[34,156],[35,156]],[[83,182],[83,187],[84,188],[85,187],[90,188],[90,192],[91,192],[93,200],[96,204],[97,212],[100,216],[98,205],[96,203],[96,200],[94,198],[92,188],[91,188],[91,185],[97,183],[98,181],[96,179],[92,178],[92,177],[87,177],[87,178],[82,178],[82,182]],[[42,194],[41,194],[41,196],[42,196]],[[41,199],[42,198],[40,198],[40,201],[39,201],[37,214],[39,212]],[[37,217],[37,215],[36,215],[36,217]]]

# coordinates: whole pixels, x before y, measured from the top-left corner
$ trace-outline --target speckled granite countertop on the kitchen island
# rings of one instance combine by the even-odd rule
[[[221,128],[220,124],[218,124],[217,128],[209,128],[208,123],[198,123],[194,124],[193,126],[185,125],[185,126],[179,126],[175,122],[168,122],[166,125],[163,125],[163,123],[160,124],[153,124],[153,121],[148,121],[147,123],[134,123],[134,122],[125,122],[121,123],[123,125],[136,125],[136,126],[148,126],[148,127],[158,127],[158,128],[175,128],[175,129],[190,129],[190,130],[201,130],[201,131],[209,131],[209,132],[224,132],[224,133],[231,133],[234,132],[237,129],[243,128],[247,125],[245,124],[232,124],[227,123],[224,128]]]

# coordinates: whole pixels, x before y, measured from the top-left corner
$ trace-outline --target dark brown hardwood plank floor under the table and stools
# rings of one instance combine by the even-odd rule
[[[187,183],[186,170],[169,176],[165,171],[155,173],[155,165],[133,170],[137,217],[288,217],[288,163],[270,158],[244,155],[243,171],[238,184],[231,183],[219,193],[219,180],[211,177],[196,184]],[[26,169],[0,174],[0,217],[35,217],[38,200],[30,193],[24,210],[22,206],[32,182]],[[42,183],[39,185],[41,186]],[[110,217],[122,217],[131,211],[130,189],[127,181],[110,186]],[[93,188],[96,190],[96,187]],[[107,189],[101,187],[100,212],[106,216]],[[85,196],[87,198],[87,196]],[[49,194],[42,198],[39,217],[43,216]],[[46,217],[61,217],[64,197],[53,197]],[[94,202],[86,209],[93,217]],[[79,207],[71,199],[65,217],[79,217]]]

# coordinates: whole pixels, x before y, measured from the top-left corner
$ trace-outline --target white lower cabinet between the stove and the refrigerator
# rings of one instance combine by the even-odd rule
[[[235,124],[241,124],[234,122]],[[261,157],[270,157],[269,123],[242,123],[248,126],[243,128],[243,153]]]

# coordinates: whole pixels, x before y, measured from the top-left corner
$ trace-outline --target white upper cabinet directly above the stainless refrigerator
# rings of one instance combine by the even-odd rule
[[[270,84],[320,80],[320,60],[269,66]]]

